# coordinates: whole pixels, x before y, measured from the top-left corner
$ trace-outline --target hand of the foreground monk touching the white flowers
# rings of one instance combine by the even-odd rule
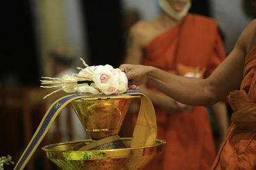
[[[138,86],[148,81],[148,73],[154,67],[133,65],[133,64],[122,64],[119,69],[124,71],[129,80],[129,89],[138,90]]]

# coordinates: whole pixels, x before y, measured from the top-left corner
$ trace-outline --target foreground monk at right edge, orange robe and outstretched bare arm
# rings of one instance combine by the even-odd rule
[[[131,89],[148,83],[189,105],[209,106],[230,93],[232,124],[211,169],[256,169],[256,20],[208,78],[177,76],[151,66],[124,64],[120,69],[132,80]]]

